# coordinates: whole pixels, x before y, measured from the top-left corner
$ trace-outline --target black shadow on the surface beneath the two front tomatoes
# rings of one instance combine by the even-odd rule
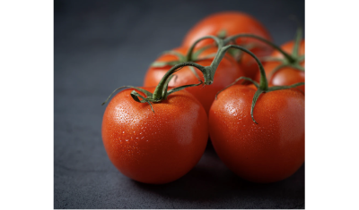
[[[198,164],[177,181],[162,185],[133,181],[139,189],[162,197],[184,200],[219,200],[236,197],[267,197],[273,200],[296,199],[305,203],[305,163],[284,181],[259,184],[245,181],[231,172],[215,154],[208,141]]]

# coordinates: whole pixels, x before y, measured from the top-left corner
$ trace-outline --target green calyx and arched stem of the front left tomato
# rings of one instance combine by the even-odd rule
[[[204,66],[201,66],[201,65],[199,65],[197,63],[190,63],[190,62],[188,62],[188,63],[180,63],[180,64],[177,64],[177,65],[173,66],[170,71],[166,72],[166,74],[163,76],[160,83],[154,89],[153,93],[151,93],[151,92],[149,92],[149,91],[147,91],[147,90],[145,90],[143,88],[138,88],[138,87],[133,87],[133,86],[122,86],[120,88],[115,89],[109,95],[109,97],[106,99],[106,101],[102,103],[102,105],[105,105],[109,101],[109,98],[116,91],[118,91],[119,89],[121,89],[121,88],[135,88],[135,90],[133,90],[131,92],[130,96],[138,103],[148,103],[151,106],[151,110],[154,113],[153,106],[152,106],[151,103],[160,103],[162,100],[166,100],[167,97],[169,95],[171,95],[172,93],[174,93],[174,92],[180,91],[180,90],[182,90],[184,88],[195,87],[195,86],[203,84],[203,81],[199,80],[199,83],[197,83],[197,84],[184,85],[184,86],[180,86],[180,87],[177,87],[177,88],[171,88],[170,90],[168,89],[168,84],[169,84],[170,80],[172,80],[172,78],[174,76],[176,76],[173,73],[176,72],[176,71],[180,71],[181,68],[183,68],[184,66],[187,66],[187,65],[194,66],[199,71],[206,71],[206,68]],[[141,96],[137,91],[143,93],[145,95],[145,97]]]

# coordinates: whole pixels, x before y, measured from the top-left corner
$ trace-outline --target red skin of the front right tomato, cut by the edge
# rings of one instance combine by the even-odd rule
[[[261,94],[234,85],[218,95],[209,112],[210,139],[217,155],[247,181],[282,181],[305,161],[305,97],[284,89]]]

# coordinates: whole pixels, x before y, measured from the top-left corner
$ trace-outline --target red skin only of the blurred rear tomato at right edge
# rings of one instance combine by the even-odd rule
[[[288,54],[292,55],[293,53],[294,42],[290,41],[285,43],[281,48]],[[301,44],[299,46],[299,55],[305,55],[305,40],[302,39]],[[285,58],[284,55],[279,53],[278,51],[273,52],[271,57],[275,58]],[[289,86],[298,82],[305,82],[305,71],[299,71],[292,67],[283,67],[279,71],[276,71],[272,76],[271,72],[280,65],[280,62],[266,62],[263,64],[264,69],[266,71],[267,80],[269,86]],[[301,63],[301,66],[305,68],[305,60]],[[256,76],[256,80],[259,81],[260,73],[258,72]],[[305,85],[297,87],[301,89],[305,93]]]

